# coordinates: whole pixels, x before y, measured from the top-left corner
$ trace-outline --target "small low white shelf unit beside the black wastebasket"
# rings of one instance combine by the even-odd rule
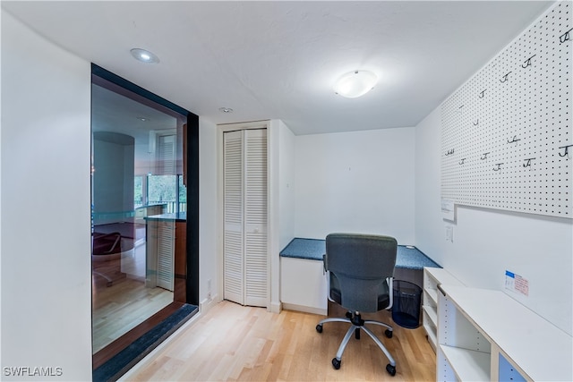
[[[428,335],[428,342],[436,352],[438,345],[438,285],[457,284],[461,282],[446,269],[437,267],[423,268],[423,328]]]

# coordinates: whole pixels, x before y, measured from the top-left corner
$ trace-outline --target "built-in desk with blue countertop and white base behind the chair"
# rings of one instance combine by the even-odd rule
[[[280,300],[283,308],[326,315],[327,280],[322,266],[326,242],[295,238],[280,252]],[[398,245],[394,278],[423,285],[423,267],[440,267],[413,246]]]

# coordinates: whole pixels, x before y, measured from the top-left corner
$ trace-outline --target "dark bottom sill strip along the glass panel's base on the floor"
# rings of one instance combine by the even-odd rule
[[[133,368],[143,357],[161,344],[169,335],[181,327],[189,318],[197,313],[195,305],[185,304],[176,310],[171,316],[165,318],[153,327],[145,335],[141,335],[137,340],[118,352],[109,361],[95,369],[92,374],[94,382],[115,381]]]

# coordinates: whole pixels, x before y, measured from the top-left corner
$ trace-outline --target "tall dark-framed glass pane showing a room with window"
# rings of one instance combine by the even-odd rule
[[[167,282],[150,283],[158,266],[149,264],[145,219],[186,211],[184,123],[185,116],[93,76],[93,353],[174,301],[173,271]]]

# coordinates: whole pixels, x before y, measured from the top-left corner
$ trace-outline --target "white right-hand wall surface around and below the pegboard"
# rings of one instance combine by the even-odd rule
[[[503,290],[572,334],[573,220],[458,206],[446,242],[440,107],[416,126],[415,151],[415,245],[468,286]],[[506,270],[528,280],[528,296],[505,290]]]

